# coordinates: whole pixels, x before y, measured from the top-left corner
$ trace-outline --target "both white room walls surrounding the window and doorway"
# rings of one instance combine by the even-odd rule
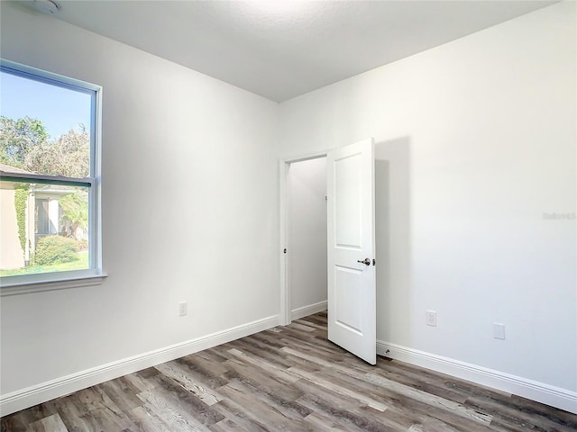
[[[278,157],[370,136],[379,158],[378,338],[577,390],[575,220],[543,218],[575,211],[574,3],[280,108],[0,4],[4,58],[104,86],[110,275],[99,287],[2,298],[3,396],[271,322]],[[425,326],[427,309],[438,327]],[[494,321],[506,324],[506,340],[492,338]]]

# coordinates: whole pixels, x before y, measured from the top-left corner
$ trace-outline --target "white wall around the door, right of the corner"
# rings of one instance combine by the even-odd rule
[[[280,105],[281,156],[376,139],[377,338],[573,407],[575,40],[554,4]]]

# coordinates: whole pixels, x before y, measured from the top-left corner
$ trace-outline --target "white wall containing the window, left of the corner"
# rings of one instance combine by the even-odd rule
[[[2,394],[278,322],[277,103],[19,4],[1,7],[3,58],[104,87],[109,275],[101,286],[2,298]]]

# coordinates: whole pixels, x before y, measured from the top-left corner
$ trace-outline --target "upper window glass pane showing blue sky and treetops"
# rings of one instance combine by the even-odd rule
[[[0,85],[3,170],[88,176],[93,93],[5,71]]]

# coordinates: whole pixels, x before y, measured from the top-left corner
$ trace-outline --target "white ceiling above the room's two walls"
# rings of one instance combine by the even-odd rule
[[[273,101],[551,1],[68,1],[53,16]]]

